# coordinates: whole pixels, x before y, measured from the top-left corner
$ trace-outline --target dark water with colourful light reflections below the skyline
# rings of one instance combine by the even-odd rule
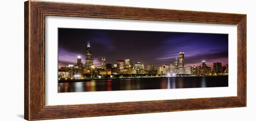
[[[58,92],[122,91],[229,86],[228,76],[101,79],[58,83]]]

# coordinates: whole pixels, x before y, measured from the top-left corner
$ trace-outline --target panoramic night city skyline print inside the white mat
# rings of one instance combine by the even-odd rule
[[[58,28],[58,92],[229,86],[228,34]]]

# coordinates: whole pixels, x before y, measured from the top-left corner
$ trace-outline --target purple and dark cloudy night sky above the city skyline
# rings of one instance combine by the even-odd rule
[[[85,65],[88,41],[96,67],[102,57],[107,64],[131,59],[142,62],[145,69],[160,67],[173,64],[179,52],[185,53],[185,66],[202,65],[202,60],[210,67],[214,62],[228,64],[228,34],[59,28],[59,67],[75,64],[78,55]]]

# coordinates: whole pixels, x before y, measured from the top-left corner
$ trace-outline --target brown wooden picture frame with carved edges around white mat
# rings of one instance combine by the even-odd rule
[[[46,120],[103,115],[246,107],[246,14],[25,2],[25,119]],[[237,96],[124,103],[45,105],[45,17],[88,17],[237,25]]]

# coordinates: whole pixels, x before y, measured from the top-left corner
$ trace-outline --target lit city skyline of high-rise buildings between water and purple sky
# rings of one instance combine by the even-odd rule
[[[167,76],[182,76],[182,75],[211,75],[228,73],[228,65],[222,66],[222,63],[213,63],[213,67],[208,67],[205,61],[202,61],[202,66],[186,66],[185,65],[185,53],[180,52],[179,58],[171,64],[164,64],[162,67],[155,65],[144,66],[141,62],[133,63],[130,59],[116,60],[115,64],[106,63],[105,57],[101,58],[101,67],[94,66],[93,54],[91,51],[91,45],[88,41],[86,50],[85,66],[83,66],[81,56],[77,56],[77,62],[75,66],[69,64],[66,67],[61,67],[58,70],[59,78],[81,78],[84,75],[96,76],[96,75],[119,75],[119,74],[147,74],[147,75],[167,75]]]

